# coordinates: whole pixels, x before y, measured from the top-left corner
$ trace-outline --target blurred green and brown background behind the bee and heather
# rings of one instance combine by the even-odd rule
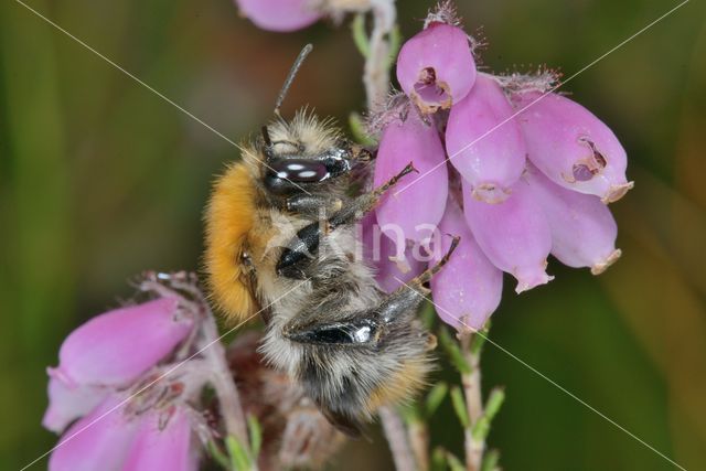
[[[269,119],[306,42],[315,50],[285,114],[309,104],[345,122],[363,107],[346,25],[263,32],[227,0],[29,3],[234,140]],[[547,64],[566,76],[677,4],[459,3],[489,43],[485,66]],[[406,36],[429,7],[399,2]],[[492,331],[691,470],[706,469],[705,13],[691,1],[567,84],[631,159],[637,186],[612,206],[623,257],[599,278],[553,261],[549,286],[507,290]],[[0,468],[18,469],[56,441],[40,420],[62,339],[129,296],[141,270],[199,267],[212,175],[237,151],[19,3],[0,6]],[[490,437],[505,469],[672,468],[490,345],[483,373],[485,386],[506,387]],[[460,437],[443,409],[432,441],[458,450]],[[333,469],[389,467],[381,440],[344,453]]]

